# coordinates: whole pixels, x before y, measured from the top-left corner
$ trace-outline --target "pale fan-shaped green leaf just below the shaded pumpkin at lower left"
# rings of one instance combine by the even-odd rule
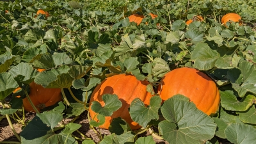
[[[51,129],[58,125],[63,119],[63,116],[59,111],[44,111],[43,113],[37,114],[38,117],[44,122],[44,124],[49,125]]]

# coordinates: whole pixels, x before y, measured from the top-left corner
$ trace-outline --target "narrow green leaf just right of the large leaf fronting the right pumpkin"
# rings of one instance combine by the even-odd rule
[[[224,132],[226,127],[228,126],[227,122],[223,120],[223,118],[212,118],[212,119],[217,124],[215,135],[223,139],[227,138]]]

